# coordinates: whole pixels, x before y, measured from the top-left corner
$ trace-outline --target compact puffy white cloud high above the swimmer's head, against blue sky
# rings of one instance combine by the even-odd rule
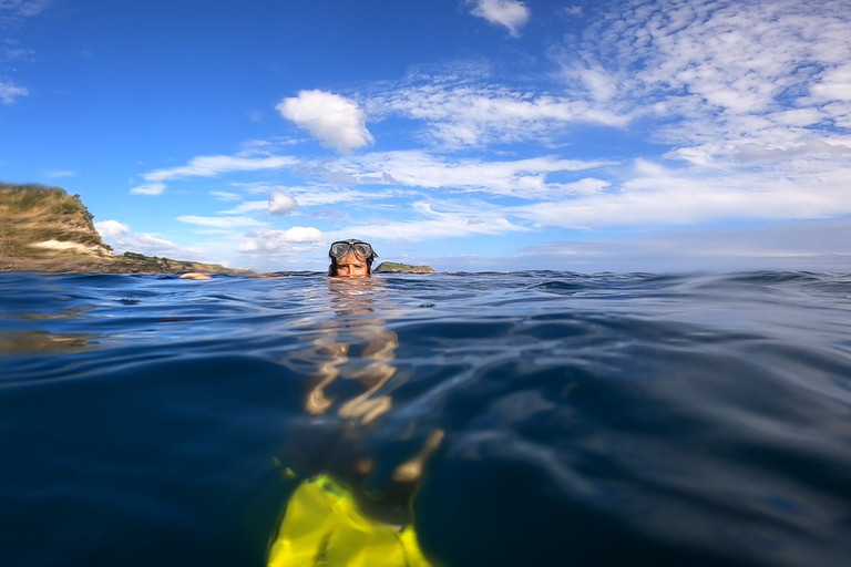
[[[373,142],[363,111],[340,95],[301,91],[296,97],[284,99],[276,107],[281,116],[310,132],[322,146],[342,154]]]

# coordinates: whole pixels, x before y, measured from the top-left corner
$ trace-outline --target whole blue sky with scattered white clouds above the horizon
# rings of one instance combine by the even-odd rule
[[[0,181],[125,250],[851,271],[851,0],[0,0]]]

